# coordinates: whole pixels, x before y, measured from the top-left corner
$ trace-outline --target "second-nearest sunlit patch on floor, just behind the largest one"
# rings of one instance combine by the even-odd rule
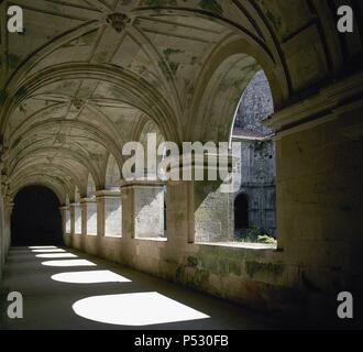
[[[131,283],[129,278],[110,271],[62,273],[53,275],[52,279],[69,284]]]

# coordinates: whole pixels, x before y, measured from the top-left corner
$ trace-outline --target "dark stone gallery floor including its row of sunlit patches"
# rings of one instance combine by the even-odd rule
[[[23,319],[8,318],[10,292],[23,295]],[[240,306],[63,249],[11,249],[0,299],[1,329],[279,328]]]

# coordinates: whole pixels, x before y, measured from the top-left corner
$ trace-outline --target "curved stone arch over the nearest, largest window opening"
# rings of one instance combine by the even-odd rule
[[[276,108],[288,97],[286,77],[268,57],[241,40],[221,45],[201,74],[193,103],[188,134],[193,140],[228,141],[241,95],[252,77],[264,70]]]

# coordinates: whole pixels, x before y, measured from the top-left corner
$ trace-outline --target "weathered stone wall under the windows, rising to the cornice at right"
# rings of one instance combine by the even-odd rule
[[[194,187],[184,183],[168,187],[168,241],[133,239],[129,218],[122,239],[67,241],[255,309],[334,321],[337,295],[363,293],[363,142],[350,136],[359,120],[348,116],[277,142],[278,250],[190,243]],[[130,210],[130,197],[123,201]]]

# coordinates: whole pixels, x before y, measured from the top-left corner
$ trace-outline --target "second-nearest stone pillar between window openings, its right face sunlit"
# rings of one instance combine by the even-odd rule
[[[121,183],[121,193],[124,195],[122,199],[127,202],[122,215],[124,231],[131,238],[165,238],[164,190],[165,183],[163,182],[136,180]]]

